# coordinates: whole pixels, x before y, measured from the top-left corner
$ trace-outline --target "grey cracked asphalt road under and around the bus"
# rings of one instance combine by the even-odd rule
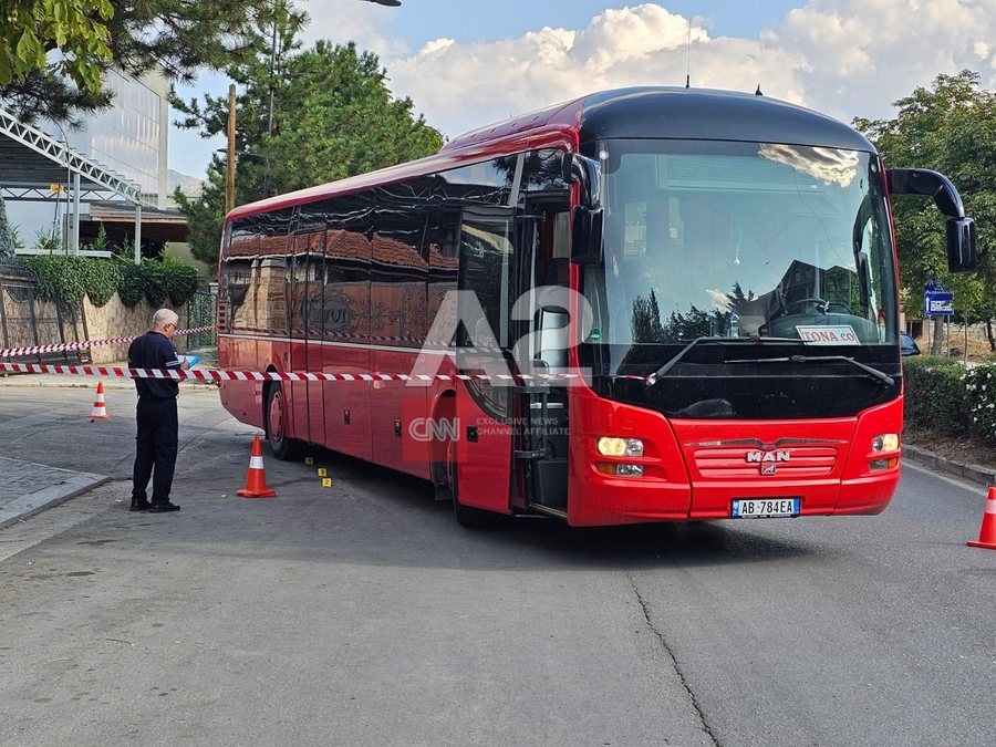
[[[134,395],[0,388],[6,457],[112,476],[0,530],[2,745],[982,745],[984,491],[879,517],[459,528],[427,485],[180,398],[176,515],[126,510]],[[319,468],[333,485],[322,487]]]

